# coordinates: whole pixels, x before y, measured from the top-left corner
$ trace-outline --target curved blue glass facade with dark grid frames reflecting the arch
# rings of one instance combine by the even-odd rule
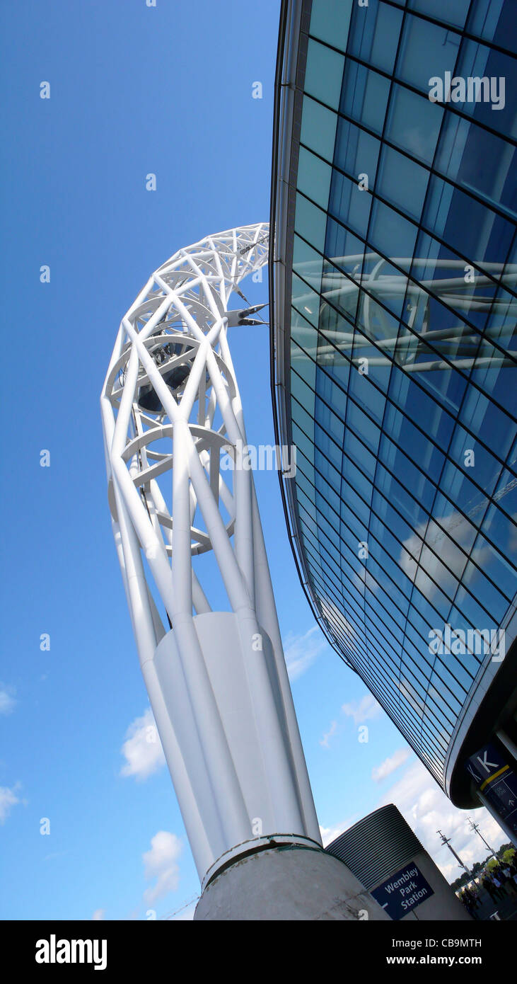
[[[298,6],[275,230],[290,522],[327,634],[447,789],[515,635],[515,4]]]

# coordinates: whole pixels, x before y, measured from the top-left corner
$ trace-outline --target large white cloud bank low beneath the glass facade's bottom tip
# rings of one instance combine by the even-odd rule
[[[508,840],[485,807],[469,814],[468,810],[458,810],[453,806],[421,762],[405,769],[401,778],[382,795],[377,806],[387,803],[394,803],[398,807],[449,882],[454,882],[461,875],[462,869],[449,849],[440,843],[436,830],[441,830],[445,836],[451,838],[452,846],[467,867],[476,861],[485,860],[488,854],[478,834],[470,830],[469,816],[479,824],[481,832],[494,850]]]

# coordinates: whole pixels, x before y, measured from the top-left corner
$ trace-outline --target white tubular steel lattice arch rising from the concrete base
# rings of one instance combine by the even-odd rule
[[[122,319],[101,395],[122,577],[203,885],[271,838],[320,845],[227,341],[257,324],[228,301],[267,249],[259,223],[175,253]],[[207,550],[230,611],[198,578]]]

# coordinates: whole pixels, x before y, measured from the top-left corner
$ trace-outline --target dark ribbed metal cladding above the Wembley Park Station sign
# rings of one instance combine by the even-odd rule
[[[345,830],[325,850],[343,861],[370,892],[425,849],[390,803]]]

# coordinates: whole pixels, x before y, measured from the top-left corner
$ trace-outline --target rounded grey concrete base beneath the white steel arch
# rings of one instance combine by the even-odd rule
[[[195,919],[389,919],[355,875],[323,850],[276,847],[236,861],[213,879]]]

